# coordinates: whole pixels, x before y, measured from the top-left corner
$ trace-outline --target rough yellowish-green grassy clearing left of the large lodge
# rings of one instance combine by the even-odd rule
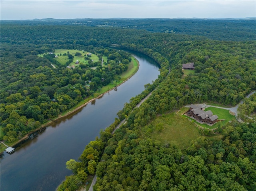
[[[200,136],[200,132],[193,122],[182,117],[182,114],[186,110],[187,108],[182,108],[178,113],[172,112],[170,114],[158,116],[146,128],[150,129],[150,127],[161,125],[163,125],[163,128],[162,130],[156,130],[154,128],[149,135],[150,138],[159,144],[176,142],[182,150],[188,148],[190,142]]]

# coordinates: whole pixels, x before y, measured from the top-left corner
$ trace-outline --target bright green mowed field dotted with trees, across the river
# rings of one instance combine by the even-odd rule
[[[85,55],[85,54],[89,54],[90,52],[82,51],[82,50],[56,49],[55,52],[54,52],[54,54],[55,54],[55,55],[58,55],[58,54],[59,54],[59,56],[58,56],[57,58],[55,58],[55,59],[56,59],[58,62],[60,62],[61,64],[65,64],[65,63],[68,61],[68,56],[60,56],[60,54],[63,55],[64,53],[68,53],[68,51],[69,51],[69,53],[70,53],[71,55],[74,56],[74,60],[73,60],[72,63],[70,63],[70,66],[75,65],[75,63],[76,63],[77,60],[79,61],[79,63],[84,63],[84,64],[88,63],[88,60],[84,60],[84,55]],[[75,53],[76,53],[76,52],[79,52],[79,53],[81,53],[82,55],[81,55],[81,56],[75,56]],[[91,53],[91,54],[92,54],[92,53]],[[91,57],[90,57],[90,59],[92,59],[93,62],[99,61],[99,57],[98,57],[97,55],[95,55],[95,54],[92,54]]]

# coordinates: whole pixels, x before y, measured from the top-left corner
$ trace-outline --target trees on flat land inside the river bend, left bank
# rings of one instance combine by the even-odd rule
[[[41,48],[29,53],[28,45],[21,47],[6,44],[1,47],[0,120],[5,134],[2,139],[9,143],[74,107],[103,86],[114,84],[131,61],[125,51],[89,47],[100,58],[108,57],[107,66],[102,66],[100,61],[96,69],[82,63],[68,69],[66,65],[56,63],[50,54],[36,55],[42,53]],[[56,64],[57,68],[52,68],[50,63]]]

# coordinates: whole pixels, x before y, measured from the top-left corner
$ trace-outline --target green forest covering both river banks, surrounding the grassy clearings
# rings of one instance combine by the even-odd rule
[[[214,33],[215,37],[222,32]],[[97,69],[105,70],[104,79],[112,77],[111,81],[119,72],[120,63],[129,61],[125,52],[121,55],[107,47],[118,45],[152,57],[161,66],[160,75],[125,104],[118,112],[118,119],[86,146],[78,161],[67,161],[73,175],[66,177],[58,190],[77,190],[88,175],[94,174],[98,177],[95,191],[256,190],[253,120],[232,121],[214,132],[220,136],[202,134],[183,150],[173,142],[162,145],[143,135],[143,130],[158,116],[184,105],[215,102],[234,106],[256,89],[253,36],[245,35],[247,39],[243,40],[230,36],[219,41],[195,34],[1,24],[1,128],[6,132],[5,138],[20,138],[22,133],[54,116],[54,112],[62,112],[79,102],[94,91],[91,86],[89,91],[84,89],[86,81],[94,82],[95,88],[102,85],[99,80],[102,73],[86,65],[70,70],[57,64],[54,71],[50,66],[52,59],[38,54],[54,49],[78,49],[97,53],[99,57],[108,56],[110,66],[113,63],[112,67],[119,67],[114,69],[115,73],[109,67]],[[184,76],[182,63],[188,62],[194,62],[195,72]],[[152,95],[134,108],[150,92]],[[248,105],[250,113],[246,110]],[[255,96],[245,99],[240,110],[242,116],[255,113]],[[123,119],[126,123],[112,134]]]

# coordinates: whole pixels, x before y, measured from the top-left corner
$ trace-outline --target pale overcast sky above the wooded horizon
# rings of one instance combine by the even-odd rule
[[[0,0],[0,6],[0,20],[256,17],[255,0]]]

